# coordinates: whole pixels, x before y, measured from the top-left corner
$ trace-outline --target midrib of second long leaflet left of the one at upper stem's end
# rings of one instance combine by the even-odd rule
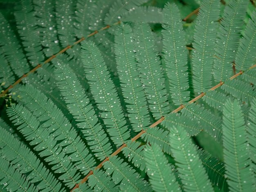
[[[101,142],[99,141],[99,138],[97,137],[97,134],[94,132],[93,126],[92,126],[92,124],[90,123],[89,118],[87,117],[86,113],[84,112],[83,107],[82,107],[81,104],[79,103],[79,100],[78,100],[78,98],[76,97],[76,93],[75,93],[74,90],[72,89],[72,86],[71,86],[69,80],[67,80],[67,84],[68,84],[69,87],[70,87],[70,90],[71,90],[71,92],[72,92],[73,98],[76,100],[76,105],[79,107],[79,109],[80,109],[81,112],[83,113],[83,116],[85,117],[85,121],[89,124],[90,129],[91,129],[91,131],[92,131],[92,133],[93,133],[93,135],[94,135],[94,138],[96,139],[97,143],[99,144],[99,146],[100,146],[99,148],[101,148],[101,151],[104,153],[104,156],[107,157],[107,154],[106,154],[105,150],[103,150],[103,146],[102,146]],[[86,106],[85,106],[85,107],[86,107]],[[92,108],[91,110],[94,110],[94,109]],[[95,116],[95,115],[94,115],[94,116]],[[95,117],[95,118],[97,118],[97,117]],[[85,122],[85,121],[83,121],[83,122]],[[94,140],[94,141],[95,141],[95,140]]]

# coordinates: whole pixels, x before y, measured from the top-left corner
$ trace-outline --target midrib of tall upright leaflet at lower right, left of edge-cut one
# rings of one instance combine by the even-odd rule
[[[239,187],[239,191],[243,192],[242,189],[242,184],[241,184],[241,178],[240,178],[240,172],[239,172],[239,168],[238,168],[238,153],[237,153],[237,148],[236,148],[236,136],[235,136],[235,118],[234,118],[234,103],[231,103],[231,122],[232,122],[232,137],[233,137],[233,147],[234,147],[234,155],[235,155],[235,161],[236,161],[236,173],[238,176],[238,187]]]

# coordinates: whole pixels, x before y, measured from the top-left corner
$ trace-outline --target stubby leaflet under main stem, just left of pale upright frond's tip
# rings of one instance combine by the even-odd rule
[[[126,144],[126,147],[122,149],[122,152],[126,158],[128,157],[128,161],[131,161],[135,167],[140,168],[141,170],[144,170],[146,167],[146,162],[143,156],[143,150],[145,145],[141,145],[139,142],[132,142],[129,141]],[[147,170],[145,170],[147,171]]]

